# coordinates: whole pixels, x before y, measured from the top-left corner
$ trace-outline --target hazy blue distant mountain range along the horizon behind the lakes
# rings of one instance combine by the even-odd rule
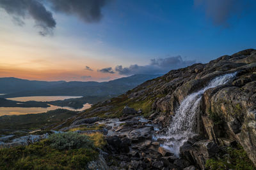
[[[144,81],[161,74],[135,74],[116,80],[97,81],[31,81],[19,78],[0,78],[1,97],[24,96],[117,96]]]

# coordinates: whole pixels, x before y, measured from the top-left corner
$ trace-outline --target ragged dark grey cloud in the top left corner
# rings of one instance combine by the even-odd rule
[[[24,25],[24,18],[31,17],[35,26],[40,28],[39,34],[45,36],[52,32],[56,21],[52,13],[47,11],[45,6],[36,0],[0,0],[0,8],[3,8],[18,25]]]

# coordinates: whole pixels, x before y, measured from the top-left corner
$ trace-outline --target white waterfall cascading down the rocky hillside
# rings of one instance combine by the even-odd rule
[[[211,80],[207,87],[190,94],[180,103],[166,136],[160,137],[167,140],[163,145],[164,148],[179,157],[180,146],[196,134],[196,113],[200,109],[200,101],[204,92],[218,85],[224,85],[234,76],[236,76],[236,73],[218,76]]]

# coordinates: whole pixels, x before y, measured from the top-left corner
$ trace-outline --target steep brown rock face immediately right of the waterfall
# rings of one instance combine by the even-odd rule
[[[236,139],[256,164],[256,81],[245,70],[231,87],[217,87],[204,94],[204,127],[210,139]],[[208,120],[208,122],[206,121]],[[222,131],[222,133],[221,133]]]

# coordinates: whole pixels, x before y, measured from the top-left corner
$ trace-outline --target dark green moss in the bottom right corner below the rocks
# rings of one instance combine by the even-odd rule
[[[228,153],[229,156],[225,153]],[[242,146],[228,147],[221,159],[209,159],[206,161],[205,167],[207,169],[255,169]]]

